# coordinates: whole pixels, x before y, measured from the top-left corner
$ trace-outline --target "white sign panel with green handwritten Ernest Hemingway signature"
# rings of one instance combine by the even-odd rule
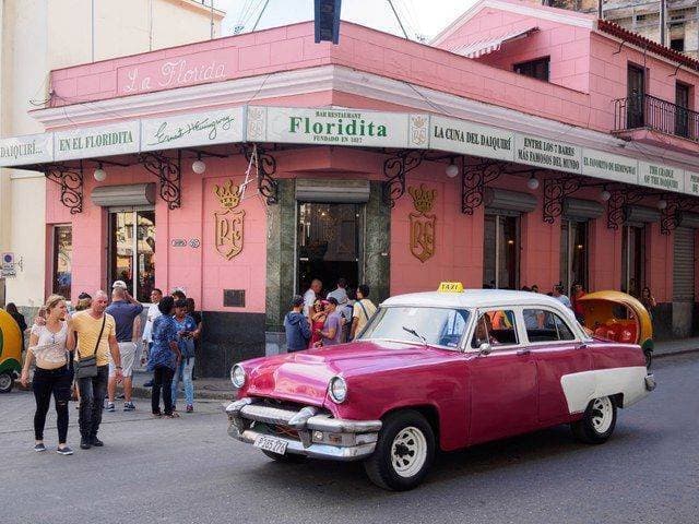
[[[141,121],[141,151],[242,142],[242,107]]]

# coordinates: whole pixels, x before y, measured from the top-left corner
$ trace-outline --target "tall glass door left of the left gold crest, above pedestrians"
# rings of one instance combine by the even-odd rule
[[[155,211],[111,212],[109,239],[109,287],[123,281],[137,300],[147,302],[155,285]]]

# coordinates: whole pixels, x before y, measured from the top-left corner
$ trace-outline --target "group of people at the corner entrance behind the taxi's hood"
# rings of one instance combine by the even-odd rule
[[[353,341],[376,312],[369,294],[366,284],[353,293],[347,289],[347,281],[339,278],[336,287],[323,297],[323,284],[315,278],[303,296],[294,296],[292,310],[284,318],[287,350],[300,352]]]

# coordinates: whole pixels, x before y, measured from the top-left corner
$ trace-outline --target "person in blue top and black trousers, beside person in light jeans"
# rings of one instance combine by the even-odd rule
[[[176,418],[179,415],[173,412],[173,376],[181,358],[177,345],[177,325],[171,317],[175,300],[173,297],[163,297],[157,307],[161,315],[153,322],[153,345],[149,355],[149,371],[153,372],[151,409],[155,417]]]

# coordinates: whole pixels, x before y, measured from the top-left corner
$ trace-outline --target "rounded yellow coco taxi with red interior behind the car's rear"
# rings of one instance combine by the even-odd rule
[[[621,291],[595,291],[579,299],[584,326],[597,338],[638,344],[650,369],[653,355],[651,315],[636,298]]]

